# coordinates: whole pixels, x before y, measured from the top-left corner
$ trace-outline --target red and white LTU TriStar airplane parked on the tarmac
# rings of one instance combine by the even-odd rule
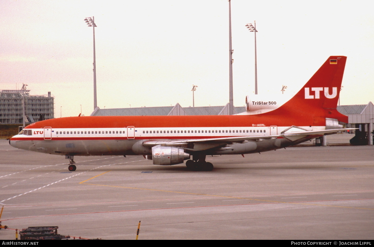
[[[155,165],[211,171],[206,155],[251,154],[339,133],[348,117],[337,111],[347,57],[330,56],[284,104],[246,98],[246,112],[209,116],[79,116],[43,120],[9,140],[15,148],[74,156],[143,155]]]

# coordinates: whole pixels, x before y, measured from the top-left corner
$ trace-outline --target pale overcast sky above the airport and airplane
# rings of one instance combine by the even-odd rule
[[[232,0],[234,105],[254,93],[301,89],[330,55],[347,56],[341,105],[374,101],[374,3]],[[1,0],[0,89],[52,92],[55,116],[93,110],[95,17],[100,108],[229,102],[227,0]],[[287,94],[286,94],[287,95]],[[61,108],[62,106],[62,108]]]

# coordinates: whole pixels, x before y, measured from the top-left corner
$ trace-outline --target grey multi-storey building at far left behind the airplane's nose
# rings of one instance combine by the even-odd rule
[[[18,90],[0,90],[0,124],[25,124],[54,118],[55,97],[30,95],[24,84]]]

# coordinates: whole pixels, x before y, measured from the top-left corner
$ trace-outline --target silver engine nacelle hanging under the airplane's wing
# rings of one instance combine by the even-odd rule
[[[170,166],[183,163],[188,160],[190,154],[183,148],[157,145],[152,148],[152,160],[154,165]]]

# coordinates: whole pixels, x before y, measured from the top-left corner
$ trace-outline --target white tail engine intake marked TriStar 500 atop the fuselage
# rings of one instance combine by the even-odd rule
[[[286,97],[278,95],[247,95],[245,97],[245,108],[247,112],[255,114],[273,111],[286,102]]]

